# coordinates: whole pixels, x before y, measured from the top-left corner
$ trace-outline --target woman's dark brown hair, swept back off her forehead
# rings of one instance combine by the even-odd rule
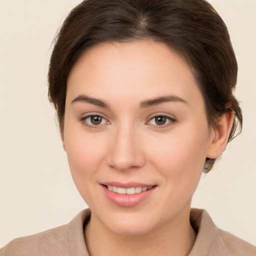
[[[85,0],[71,10],[55,37],[48,71],[48,96],[61,134],[66,80],[81,54],[102,42],[141,39],[163,42],[182,56],[204,98],[209,126],[216,126],[224,111],[233,111],[228,141],[239,134],[235,55],[225,23],[205,0]],[[206,159],[204,172],[215,160]]]

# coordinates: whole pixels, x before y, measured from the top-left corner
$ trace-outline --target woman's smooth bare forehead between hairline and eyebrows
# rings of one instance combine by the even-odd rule
[[[163,43],[112,42],[94,46],[75,63],[67,80],[67,98],[78,94],[103,98],[152,98],[175,94],[201,97],[190,67]]]

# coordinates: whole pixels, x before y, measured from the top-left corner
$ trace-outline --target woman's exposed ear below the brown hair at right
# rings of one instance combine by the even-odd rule
[[[216,127],[211,129],[210,141],[206,157],[214,159],[226,148],[228,136],[232,128],[234,112],[227,109],[218,120]]]

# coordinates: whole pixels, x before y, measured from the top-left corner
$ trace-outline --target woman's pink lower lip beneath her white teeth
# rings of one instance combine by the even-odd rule
[[[137,205],[138,203],[144,201],[147,197],[149,197],[156,188],[156,186],[153,186],[146,191],[135,194],[118,194],[116,192],[110,191],[104,185],[101,186],[104,190],[106,197],[114,204],[122,207],[132,207]]]

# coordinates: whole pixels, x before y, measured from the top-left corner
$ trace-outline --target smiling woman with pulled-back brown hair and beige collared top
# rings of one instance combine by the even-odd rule
[[[89,209],[2,255],[254,255],[190,210],[242,116],[225,24],[203,0],[87,0],[62,25],[49,98]],[[100,245],[99,245],[100,244]]]

